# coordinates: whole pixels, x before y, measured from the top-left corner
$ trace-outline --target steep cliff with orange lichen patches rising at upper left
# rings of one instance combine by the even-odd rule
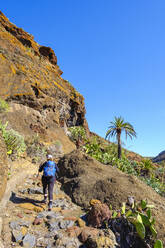
[[[0,12],[0,97],[10,103],[1,119],[24,135],[38,133],[50,142],[63,137],[70,151],[61,128],[88,126],[83,96],[61,74],[54,51]]]

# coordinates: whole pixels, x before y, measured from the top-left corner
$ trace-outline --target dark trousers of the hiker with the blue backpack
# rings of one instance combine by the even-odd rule
[[[43,186],[44,198],[47,198],[47,190],[48,190],[49,201],[53,200],[54,183],[55,183],[55,177],[42,176],[42,186]]]

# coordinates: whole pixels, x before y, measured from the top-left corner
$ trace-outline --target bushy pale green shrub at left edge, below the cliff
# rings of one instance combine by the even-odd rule
[[[7,122],[5,125],[0,122],[0,130],[7,147],[7,154],[19,157],[26,150],[24,137],[13,129],[8,130],[7,125]]]

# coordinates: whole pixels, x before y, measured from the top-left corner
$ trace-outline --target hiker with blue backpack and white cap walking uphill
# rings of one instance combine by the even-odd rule
[[[56,172],[59,171],[59,168],[56,165],[56,163],[53,161],[53,157],[51,154],[48,154],[47,161],[40,165],[38,170],[38,175],[39,172],[42,171],[43,171],[42,186],[43,186],[43,194],[44,194],[44,200],[42,202],[46,203],[48,196],[49,198],[48,210],[51,211],[52,203],[53,203],[53,187],[56,181]],[[48,195],[47,195],[47,189],[48,189]]]

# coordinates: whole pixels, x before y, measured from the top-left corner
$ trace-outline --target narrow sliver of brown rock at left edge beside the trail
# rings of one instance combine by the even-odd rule
[[[0,133],[0,200],[2,199],[6,189],[7,171],[8,171],[8,163],[7,163],[7,155],[6,155],[6,146],[4,144],[4,140]]]

